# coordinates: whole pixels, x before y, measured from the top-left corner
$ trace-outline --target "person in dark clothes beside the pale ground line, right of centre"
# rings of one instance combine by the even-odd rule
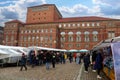
[[[90,55],[88,52],[85,53],[84,57],[83,57],[83,62],[84,62],[84,67],[85,67],[85,73],[88,73],[88,67],[90,64]]]

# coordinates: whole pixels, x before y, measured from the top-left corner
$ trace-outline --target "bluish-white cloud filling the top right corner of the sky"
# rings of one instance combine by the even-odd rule
[[[120,15],[120,0],[93,0],[93,3],[99,5],[101,13],[106,16]]]

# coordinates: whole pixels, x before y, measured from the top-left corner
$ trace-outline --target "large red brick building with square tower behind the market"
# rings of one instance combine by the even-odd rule
[[[63,18],[54,4],[28,7],[26,23],[5,23],[4,45],[91,49],[120,36],[120,20],[96,16]]]

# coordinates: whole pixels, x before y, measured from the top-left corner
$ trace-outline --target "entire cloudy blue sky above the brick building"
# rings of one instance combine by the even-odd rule
[[[27,7],[55,4],[63,17],[102,16],[120,19],[120,0],[0,0],[0,26],[26,21]]]

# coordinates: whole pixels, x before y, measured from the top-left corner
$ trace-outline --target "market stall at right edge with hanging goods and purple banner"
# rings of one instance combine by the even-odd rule
[[[101,50],[103,52],[103,72],[106,76],[110,80],[120,80],[120,36],[100,42],[93,47],[94,50]]]

